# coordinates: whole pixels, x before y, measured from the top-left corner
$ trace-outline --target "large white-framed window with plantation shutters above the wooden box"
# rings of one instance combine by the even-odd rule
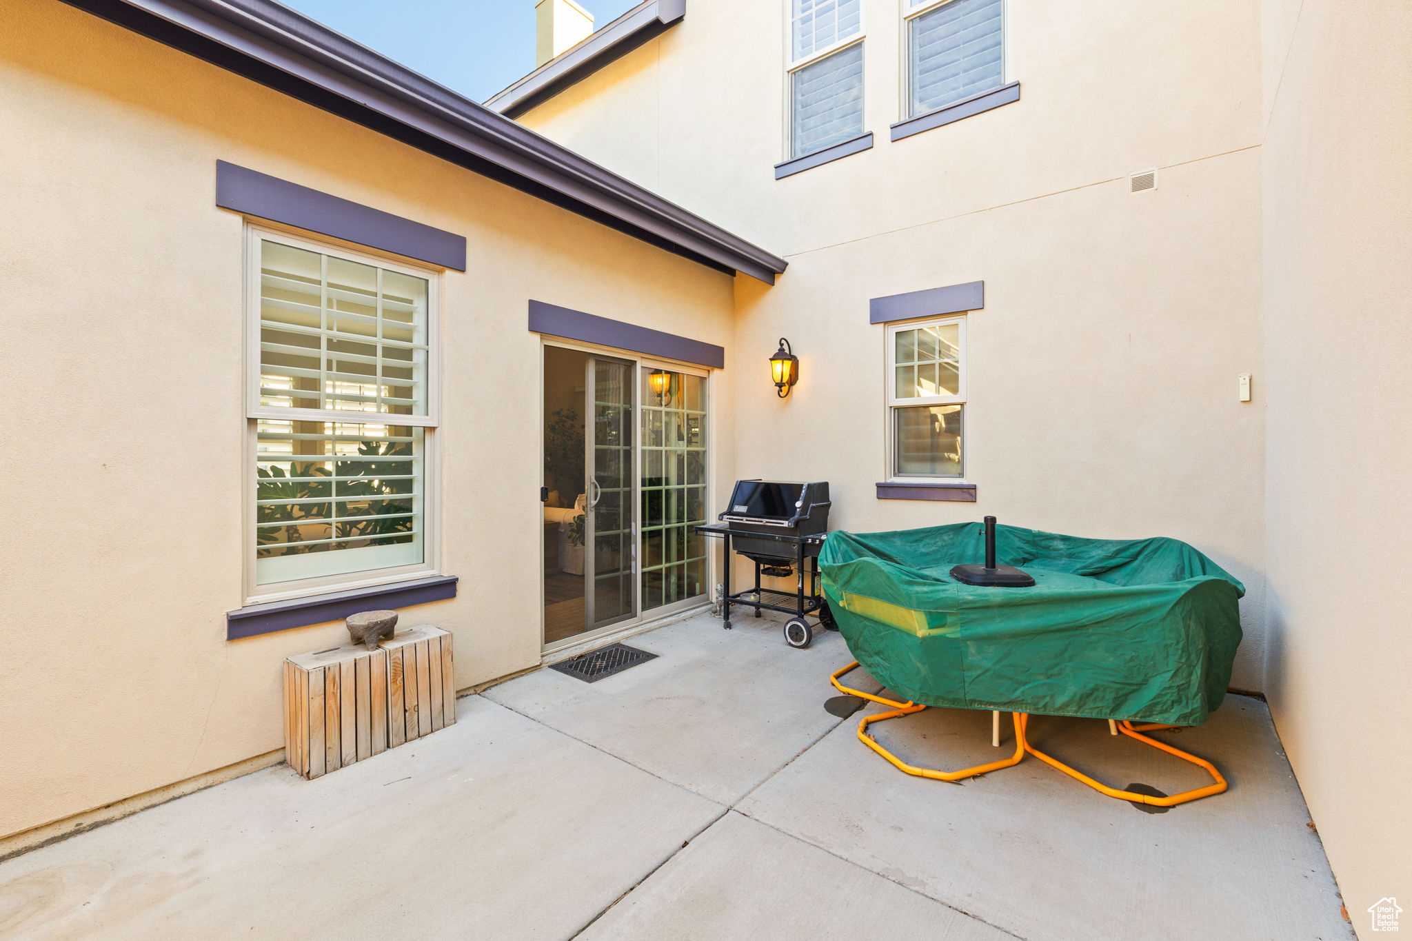
[[[247,226],[247,600],[435,570],[441,277]]]

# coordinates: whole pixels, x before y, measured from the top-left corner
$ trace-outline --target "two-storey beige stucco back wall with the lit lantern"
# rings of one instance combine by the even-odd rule
[[[1258,3],[1011,0],[1021,100],[894,144],[899,4],[864,0],[875,144],[775,181],[784,7],[692,3],[521,119],[789,260],[777,288],[737,282],[741,475],[827,478],[849,529],[995,514],[1185,539],[1245,581],[1234,686],[1261,688],[1265,403],[1237,401],[1264,358]],[[1130,195],[1127,174],[1149,166],[1159,189]],[[979,502],[878,501],[884,329],[868,299],[977,279]],[[802,361],[785,402],[764,365],[779,336]]]

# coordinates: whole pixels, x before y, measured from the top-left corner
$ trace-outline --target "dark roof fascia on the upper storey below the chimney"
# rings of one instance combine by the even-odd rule
[[[572,49],[561,52],[504,92],[486,99],[486,107],[505,117],[544,104],[640,45],[655,40],[686,16],[686,0],[647,0],[607,24]]]

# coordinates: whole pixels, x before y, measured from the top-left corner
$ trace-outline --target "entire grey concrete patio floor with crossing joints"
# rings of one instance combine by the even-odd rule
[[[594,684],[466,697],[449,729],[313,782],[268,769],[0,863],[0,938],[1351,938],[1262,703],[1158,734],[1231,782],[1165,813],[1034,758],[947,784],[825,711],[837,635],[795,650],[741,621],[640,635],[658,659]],[[936,767],[1005,752],[988,712],[873,728]],[[1099,721],[1031,738],[1120,787],[1204,783]]]

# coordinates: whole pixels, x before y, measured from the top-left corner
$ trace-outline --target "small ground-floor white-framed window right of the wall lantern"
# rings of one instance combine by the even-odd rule
[[[962,480],[966,317],[887,329],[888,478]]]

